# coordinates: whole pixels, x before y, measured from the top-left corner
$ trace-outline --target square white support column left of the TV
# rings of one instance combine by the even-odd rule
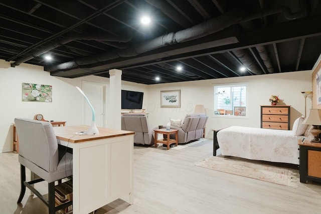
[[[109,70],[108,128],[121,129],[121,70]]]

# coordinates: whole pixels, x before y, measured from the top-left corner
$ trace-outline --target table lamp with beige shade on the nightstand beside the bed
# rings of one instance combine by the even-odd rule
[[[312,125],[310,133],[313,135],[313,139],[310,142],[321,143],[318,135],[321,133],[321,109],[310,109],[309,115],[302,122],[303,124]]]

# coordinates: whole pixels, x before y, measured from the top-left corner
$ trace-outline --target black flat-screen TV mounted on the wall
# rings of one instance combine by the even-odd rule
[[[142,109],[143,92],[121,90],[121,109]]]

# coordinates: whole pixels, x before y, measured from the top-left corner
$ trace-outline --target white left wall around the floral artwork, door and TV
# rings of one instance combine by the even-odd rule
[[[106,84],[106,100],[107,102],[109,101],[108,78],[97,76],[74,79],[54,77],[50,76],[49,72],[44,71],[41,66],[22,64],[11,68],[10,62],[0,60],[0,83],[2,88],[0,91],[0,152],[13,150],[12,123],[16,117],[33,119],[35,114],[40,113],[44,115],[46,120],[67,121],[66,125],[82,124],[81,104],[84,99],[75,87],[81,88],[82,81]],[[22,102],[22,83],[52,85],[52,102]],[[146,105],[148,101],[146,85],[123,81],[122,87],[125,90],[144,92],[146,96],[144,97],[143,106]],[[108,107],[109,103],[106,103],[107,110]],[[106,124],[108,124],[108,111],[106,112]]]

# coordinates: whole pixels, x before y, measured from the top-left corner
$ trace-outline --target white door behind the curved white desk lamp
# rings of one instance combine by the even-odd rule
[[[95,110],[95,121],[97,127],[105,127],[105,91],[106,91],[106,84],[103,83],[95,83],[95,82],[82,82],[82,91],[87,96],[88,100],[90,101],[91,105]],[[83,118],[82,122],[85,125],[91,125],[92,123],[92,111],[85,99],[83,99]]]

